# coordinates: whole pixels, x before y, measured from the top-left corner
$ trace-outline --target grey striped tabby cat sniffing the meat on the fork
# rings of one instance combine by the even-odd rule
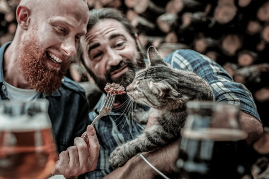
[[[136,72],[127,94],[135,102],[154,108],[158,112],[157,124],[111,153],[109,162],[114,168],[123,166],[139,152],[151,151],[178,139],[187,117],[187,101],[214,100],[210,86],[195,73],[173,69],[152,46],[147,57],[149,65]]]

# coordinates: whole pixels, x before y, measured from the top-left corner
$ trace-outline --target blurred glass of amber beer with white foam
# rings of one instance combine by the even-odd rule
[[[0,101],[0,179],[46,179],[57,158],[48,101]]]

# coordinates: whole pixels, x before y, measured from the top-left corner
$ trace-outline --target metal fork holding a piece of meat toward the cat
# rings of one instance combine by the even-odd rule
[[[115,101],[115,94],[112,95],[111,92],[108,92],[107,96],[106,96],[106,100],[104,102],[104,105],[103,107],[101,108],[101,110],[99,111],[99,115],[93,120],[92,122],[92,125],[95,124],[95,122],[100,119],[101,117],[103,116],[107,116],[112,108],[113,108],[113,104],[114,104],[114,101]],[[83,139],[86,141],[88,138],[88,135],[87,133],[83,136]]]

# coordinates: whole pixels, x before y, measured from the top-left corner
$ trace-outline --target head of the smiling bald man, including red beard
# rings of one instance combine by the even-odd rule
[[[79,39],[87,31],[85,0],[21,0],[12,41],[19,71],[31,89],[52,93],[61,85]]]

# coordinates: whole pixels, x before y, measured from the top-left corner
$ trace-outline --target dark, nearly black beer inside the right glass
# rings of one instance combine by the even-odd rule
[[[183,130],[177,168],[185,179],[251,179],[240,129]]]

